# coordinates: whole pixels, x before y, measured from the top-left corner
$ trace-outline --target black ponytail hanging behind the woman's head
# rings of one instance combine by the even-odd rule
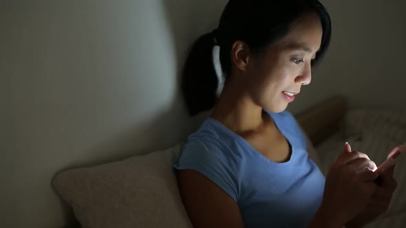
[[[184,65],[181,89],[189,115],[197,115],[213,108],[217,90],[217,76],[213,65],[213,32],[204,34],[193,43]]]

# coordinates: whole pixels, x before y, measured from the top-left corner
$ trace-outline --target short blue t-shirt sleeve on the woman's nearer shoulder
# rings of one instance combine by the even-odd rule
[[[177,170],[195,170],[213,181],[235,201],[238,198],[235,166],[217,142],[189,141],[182,148]]]

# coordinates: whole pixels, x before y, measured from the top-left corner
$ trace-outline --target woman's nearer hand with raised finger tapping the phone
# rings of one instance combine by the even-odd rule
[[[351,152],[349,144],[328,171],[319,210],[328,215],[335,225],[343,226],[363,211],[374,192],[376,165],[367,155]]]

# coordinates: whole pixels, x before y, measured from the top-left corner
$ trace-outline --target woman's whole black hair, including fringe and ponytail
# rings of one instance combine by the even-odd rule
[[[220,62],[225,76],[231,73],[231,47],[243,41],[254,53],[284,38],[290,24],[304,14],[315,12],[323,27],[321,47],[312,65],[317,64],[330,45],[330,15],[318,0],[229,0],[217,29],[193,43],[182,75],[182,93],[190,115],[212,109],[217,100],[217,76],[212,50],[220,45]]]

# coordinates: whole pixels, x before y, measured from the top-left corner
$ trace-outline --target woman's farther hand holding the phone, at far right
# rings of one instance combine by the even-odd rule
[[[389,153],[388,157],[390,157],[395,150],[396,148]],[[376,172],[381,174],[383,184],[376,187],[376,191],[372,194],[370,202],[367,203],[365,209],[354,219],[350,220],[345,227],[363,227],[387,211],[394,190],[396,190],[398,185],[393,178],[394,168],[395,166],[387,168],[386,170],[376,170]]]

